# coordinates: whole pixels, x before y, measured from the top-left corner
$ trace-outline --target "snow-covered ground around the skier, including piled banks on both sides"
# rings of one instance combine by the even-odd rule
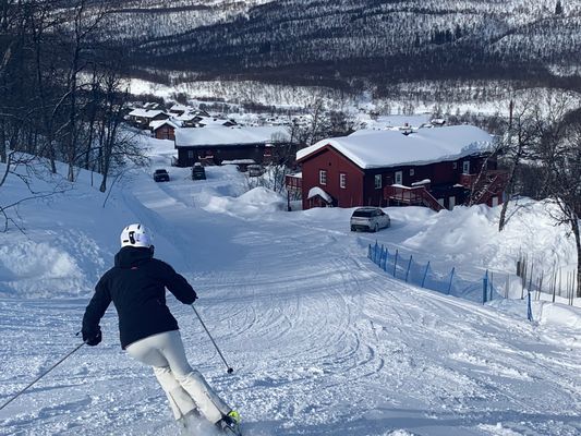
[[[129,172],[107,201],[80,173],[62,194],[11,211],[23,231],[0,233],[0,403],[80,343],[92,288],[121,229],[138,221],[155,232],[156,256],[197,290],[233,374],[192,308],[168,301],[191,363],[240,411],[245,435],[581,434],[579,307],[535,302],[530,323],[520,300],[446,296],[366,258],[377,240],[474,279],[512,271],[521,251],[567,265],[572,242],[544,205],[522,209],[501,235],[499,210],[486,207],[386,208],[390,229],[352,233],[352,209],[288,213],[234,168],[192,181],[169,168],[171,143],[149,144],[150,168]],[[169,183],[153,181],[160,167]],[[0,195],[10,204],[26,192],[9,178]],[[113,307],[101,327],[101,344],[0,410],[1,435],[178,434],[150,368],[121,350]]]

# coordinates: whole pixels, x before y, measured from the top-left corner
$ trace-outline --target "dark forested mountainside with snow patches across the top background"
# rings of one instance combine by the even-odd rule
[[[136,74],[550,86],[580,71],[581,1],[183,0],[111,8],[101,38],[126,50]]]

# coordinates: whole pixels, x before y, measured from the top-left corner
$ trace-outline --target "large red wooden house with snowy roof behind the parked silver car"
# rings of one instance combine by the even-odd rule
[[[458,204],[503,201],[506,174],[491,157],[493,137],[471,126],[358,131],[324,140],[296,154],[303,209]],[[483,168],[484,167],[484,168]],[[482,170],[482,171],[481,171]]]

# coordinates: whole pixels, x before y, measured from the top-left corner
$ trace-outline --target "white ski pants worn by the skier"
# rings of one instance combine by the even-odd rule
[[[133,359],[154,367],[175,420],[197,409],[208,421],[216,423],[230,412],[202,374],[187,363],[179,330],[149,336],[131,343],[126,351]]]

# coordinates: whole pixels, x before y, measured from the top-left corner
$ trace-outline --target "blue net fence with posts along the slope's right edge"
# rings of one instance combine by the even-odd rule
[[[452,268],[448,274],[439,274],[432,268],[429,262],[421,264],[414,261],[413,256],[403,256],[398,250],[390,252],[386,246],[378,245],[377,242],[374,245],[370,244],[367,257],[396,279],[446,295],[453,295],[482,304],[505,298],[488,277],[488,271],[477,281],[460,278],[456,274],[456,268]],[[526,306],[526,317],[532,320],[530,293]]]

